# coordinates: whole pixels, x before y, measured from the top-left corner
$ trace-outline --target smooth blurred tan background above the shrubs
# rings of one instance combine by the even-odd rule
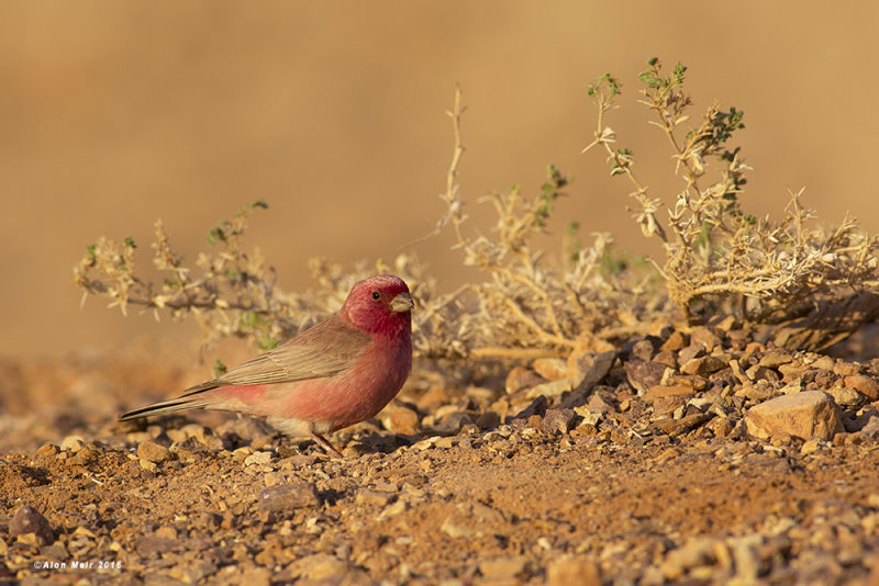
[[[594,123],[585,87],[612,71],[625,108],[610,124],[670,201],[666,139],[635,103],[635,75],[654,55],[690,67],[700,110],[719,98],[745,111],[746,210],[777,214],[787,190],[805,185],[824,222],[850,211],[879,230],[877,7],[4,2],[0,354],[191,340],[189,326],[123,318],[97,298],[80,312],[71,284],[99,235],[133,236],[148,264],[156,218],[191,258],[218,219],[265,199],[249,241],[286,289],[312,284],[315,255],[392,258],[442,212],[456,83],[469,108],[465,198],[514,183],[533,193],[554,162],[575,179],[556,228],[579,219],[585,239],[612,230],[621,247],[656,250],[623,210],[628,185],[599,154],[580,155]],[[450,286],[460,271],[449,243],[415,251]]]

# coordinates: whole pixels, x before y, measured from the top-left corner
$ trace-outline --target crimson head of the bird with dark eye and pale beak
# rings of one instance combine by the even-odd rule
[[[412,330],[411,311],[414,306],[402,279],[377,274],[354,285],[341,313],[367,334],[399,336]]]

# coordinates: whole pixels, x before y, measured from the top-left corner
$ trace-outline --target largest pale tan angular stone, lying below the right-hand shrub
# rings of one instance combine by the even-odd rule
[[[803,391],[771,398],[745,415],[748,433],[757,439],[792,436],[832,440],[843,430],[839,407],[823,391]]]

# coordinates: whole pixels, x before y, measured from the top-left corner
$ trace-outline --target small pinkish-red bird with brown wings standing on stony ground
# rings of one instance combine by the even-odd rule
[[[325,322],[178,398],[120,419],[186,409],[238,412],[265,417],[285,433],[310,436],[341,457],[323,435],[376,415],[409,376],[413,307],[402,279],[370,277]]]

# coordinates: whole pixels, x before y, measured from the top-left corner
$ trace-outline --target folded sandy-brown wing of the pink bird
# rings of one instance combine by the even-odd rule
[[[366,349],[370,337],[333,316],[292,340],[232,369],[215,381],[192,387],[198,392],[211,384],[270,384],[333,376],[351,367]]]

